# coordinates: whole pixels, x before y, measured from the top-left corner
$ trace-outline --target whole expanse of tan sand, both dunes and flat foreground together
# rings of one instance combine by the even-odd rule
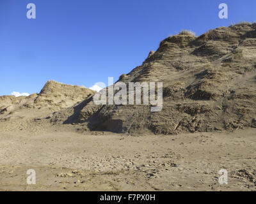
[[[0,96],[0,190],[256,190],[256,24],[170,36],[118,81],[163,82],[163,110],[54,81]]]

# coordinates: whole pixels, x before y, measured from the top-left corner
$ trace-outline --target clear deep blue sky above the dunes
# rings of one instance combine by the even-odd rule
[[[36,19],[26,17],[28,3]],[[218,17],[220,3],[228,19]],[[47,80],[107,84],[169,35],[254,22],[255,10],[255,0],[0,0],[0,95],[40,92]]]

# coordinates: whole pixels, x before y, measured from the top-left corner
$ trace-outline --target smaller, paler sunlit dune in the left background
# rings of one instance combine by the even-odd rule
[[[68,108],[95,93],[85,87],[48,81],[40,94],[30,96],[0,96],[2,120],[43,117],[45,114]]]

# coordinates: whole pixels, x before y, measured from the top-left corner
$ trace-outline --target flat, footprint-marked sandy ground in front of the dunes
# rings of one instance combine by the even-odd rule
[[[255,133],[3,131],[0,191],[255,191]],[[36,185],[26,182],[29,169]]]

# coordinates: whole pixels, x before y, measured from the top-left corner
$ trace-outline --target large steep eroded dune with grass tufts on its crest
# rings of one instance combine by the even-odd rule
[[[256,24],[219,27],[197,37],[170,36],[120,82],[163,82],[163,110],[97,106],[88,98],[54,121],[91,130],[175,134],[255,127]],[[66,112],[67,113],[67,112]]]

